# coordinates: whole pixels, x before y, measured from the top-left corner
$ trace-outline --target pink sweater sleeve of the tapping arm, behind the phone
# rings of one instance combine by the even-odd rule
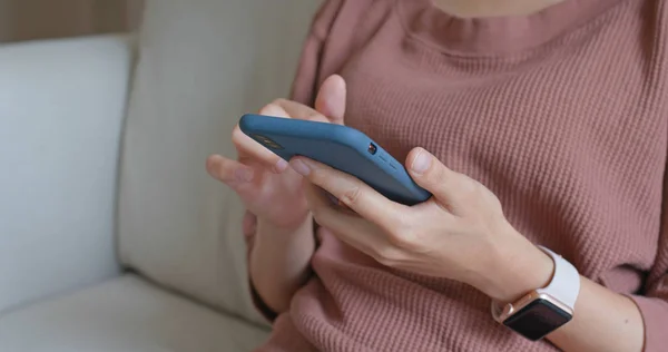
[[[331,28],[340,12],[343,0],[326,0],[315,13],[311,22],[311,29],[305,39],[296,75],[291,88],[291,99],[313,106],[320,86],[321,60],[324,46],[330,37]],[[255,243],[255,215],[246,212],[244,218],[244,235],[246,238],[247,261],[250,261],[250,252]],[[249,277],[249,276],[248,276]],[[277,314],[262,300],[253,282],[250,285],[250,297],[256,310],[268,321],[273,322]]]

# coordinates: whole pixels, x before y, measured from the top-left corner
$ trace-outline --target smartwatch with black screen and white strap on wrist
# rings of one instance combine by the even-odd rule
[[[578,270],[560,255],[539,246],[554,262],[550,283],[529,292],[514,303],[492,302],[492,316],[520,335],[537,341],[561,327],[573,317],[580,293]]]

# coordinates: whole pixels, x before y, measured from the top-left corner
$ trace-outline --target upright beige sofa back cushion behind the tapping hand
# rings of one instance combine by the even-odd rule
[[[151,280],[262,321],[242,208],[209,179],[238,117],[285,97],[316,0],[148,1],[120,178],[120,256]]]

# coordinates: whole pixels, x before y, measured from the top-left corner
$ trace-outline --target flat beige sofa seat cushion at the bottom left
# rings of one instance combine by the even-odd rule
[[[0,316],[8,352],[240,352],[266,336],[134,275]]]

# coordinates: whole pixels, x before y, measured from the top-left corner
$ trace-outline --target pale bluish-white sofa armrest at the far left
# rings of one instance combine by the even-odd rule
[[[119,272],[127,36],[0,46],[0,315]]]

